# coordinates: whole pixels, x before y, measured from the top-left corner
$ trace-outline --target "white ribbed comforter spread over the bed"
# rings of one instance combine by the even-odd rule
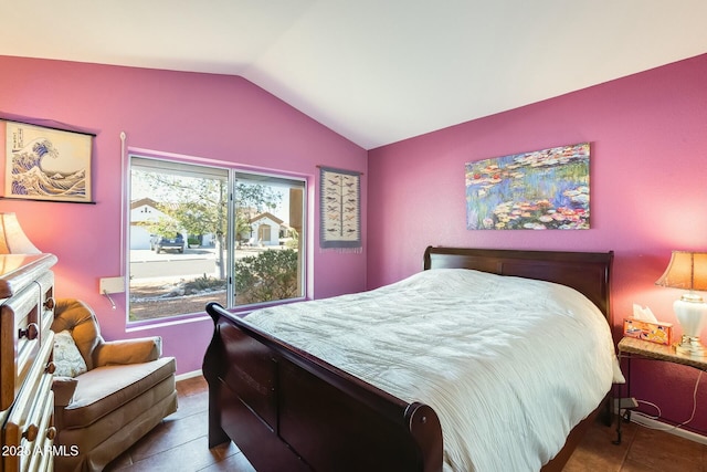
[[[276,337],[440,417],[445,470],[537,471],[620,380],[601,312],[572,289],[424,271],[260,310]]]

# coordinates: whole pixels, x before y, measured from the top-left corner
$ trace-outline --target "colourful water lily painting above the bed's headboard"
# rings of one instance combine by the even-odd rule
[[[589,155],[582,143],[467,162],[467,229],[589,229]]]

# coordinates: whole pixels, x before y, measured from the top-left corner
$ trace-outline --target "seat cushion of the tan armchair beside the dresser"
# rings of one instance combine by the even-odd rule
[[[74,399],[64,409],[63,427],[86,428],[140,396],[176,370],[173,357],[150,363],[97,367],[76,377]]]

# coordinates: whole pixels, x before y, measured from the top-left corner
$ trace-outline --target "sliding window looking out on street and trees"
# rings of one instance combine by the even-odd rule
[[[129,322],[304,296],[304,179],[130,157]]]

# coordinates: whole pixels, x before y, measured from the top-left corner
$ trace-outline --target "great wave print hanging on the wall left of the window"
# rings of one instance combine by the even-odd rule
[[[4,198],[92,203],[92,134],[1,120]]]

